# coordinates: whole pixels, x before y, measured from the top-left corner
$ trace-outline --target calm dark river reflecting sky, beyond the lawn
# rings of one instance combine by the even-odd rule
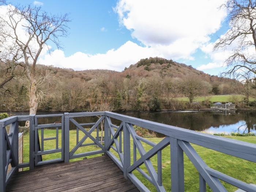
[[[28,114],[29,112],[12,112],[12,115]],[[37,114],[54,114],[58,112],[39,111]],[[59,112],[61,113],[61,112]],[[182,127],[208,133],[255,132],[256,111],[164,111],[164,112],[118,112],[158,123]],[[79,123],[95,122],[96,118],[78,118]],[[57,118],[41,118],[39,124],[54,123]],[[118,124],[118,122],[113,122]],[[72,127],[71,128],[75,128]]]

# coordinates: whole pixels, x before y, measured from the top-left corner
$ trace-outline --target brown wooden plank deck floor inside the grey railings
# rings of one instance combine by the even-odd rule
[[[55,163],[15,174],[6,191],[138,192],[108,156]]]

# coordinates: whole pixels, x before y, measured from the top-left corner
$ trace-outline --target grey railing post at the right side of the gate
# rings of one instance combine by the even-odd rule
[[[64,162],[69,163],[69,116],[64,113]]]

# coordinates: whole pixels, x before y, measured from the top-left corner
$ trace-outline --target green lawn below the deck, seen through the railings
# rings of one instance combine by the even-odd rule
[[[82,138],[83,135],[84,134],[82,132],[79,132],[79,138]],[[95,137],[96,132],[93,132],[92,135]],[[45,138],[54,137],[54,136],[55,136],[55,130],[50,130],[50,129],[44,130]],[[256,144],[256,136],[249,136],[249,137],[225,136],[225,137]],[[61,138],[61,132],[59,131],[59,141],[61,141],[60,138]],[[152,142],[158,143],[161,141],[161,139],[162,138],[151,138],[149,140],[151,140]],[[69,142],[70,142],[70,150],[71,150],[76,144],[75,130],[70,131]],[[86,143],[91,143],[91,141],[86,140]],[[44,146],[45,146],[45,150],[55,147],[55,140],[45,141]],[[148,146],[147,144],[143,144],[143,146],[146,151],[151,149],[151,146]],[[194,144],[192,144],[192,146],[195,148],[195,150],[200,155],[200,157],[202,157],[202,159],[206,162],[206,164],[211,168],[216,169],[222,173],[225,173],[239,180],[242,180],[244,182],[256,184],[256,177],[255,177],[256,163],[245,161],[243,159],[232,157],[230,155],[222,154],[217,151],[213,151],[213,150],[200,147]],[[59,147],[61,147],[61,144],[59,144]],[[133,151],[132,148],[133,146],[132,146],[132,140],[131,140],[131,153]],[[96,148],[94,146],[80,147],[76,153],[92,151],[92,150],[99,150],[99,148]],[[116,154],[113,150],[112,150],[112,153]],[[59,158],[60,155],[61,155],[60,153],[44,155],[43,160]],[[91,157],[97,157],[99,155],[93,155]],[[131,154],[131,156],[132,155],[133,154]],[[140,158],[140,155],[137,151],[137,159],[138,158]],[[83,158],[72,159],[71,161],[77,161],[81,159]],[[29,134],[26,134],[24,136],[24,161],[25,162],[29,161]],[[132,161],[133,161],[133,158],[131,158],[131,162]],[[157,170],[157,156],[155,155],[155,157],[151,158],[151,161],[155,167],[155,170]],[[142,168],[146,173],[148,173],[144,164],[140,166],[140,168]],[[141,176],[139,172],[135,170],[133,173],[150,189],[150,191],[156,191],[154,186],[151,185],[150,182],[148,182],[143,176]],[[186,192],[199,191],[199,173],[197,172],[197,170],[195,169],[195,167],[189,161],[188,157],[185,154],[184,154],[184,173],[185,173],[185,191]],[[170,188],[171,188],[170,146],[167,146],[165,149],[162,150],[162,176],[163,176],[163,185],[166,191],[170,191]],[[224,182],[223,184],[227,188],[227,190],[230,192],[231,191],[233,192],[236,190],[236,187],[233,187]],[[211,191],[208,186],[207,186],[207,191]]]

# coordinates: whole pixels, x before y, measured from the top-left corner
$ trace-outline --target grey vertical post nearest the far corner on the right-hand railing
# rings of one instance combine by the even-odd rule
[[[123,133],[124,133],[124,166],[123,166],[123,172],[124,177],[127,179],[127,169],[129,166],[131,166],[131,146],[130,146],[130,133],[128,128],[126,127],[126,123],[123,122]]]

